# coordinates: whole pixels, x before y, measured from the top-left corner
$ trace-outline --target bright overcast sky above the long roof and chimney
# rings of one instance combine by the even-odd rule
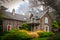
[[[16,13],[25,15],[25,12],[29,10],[30,1],[32,0],[9,0],[8,2],[5,1],[2,3],[2,5],[7,7],[7,11],[9,12],[12,12],[12,9],[15,9]],[[40,7],[40,9],[42,8]]]

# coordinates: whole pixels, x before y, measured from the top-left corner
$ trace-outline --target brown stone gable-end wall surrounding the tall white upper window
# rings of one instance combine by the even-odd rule
[[[45,23],[45,17],[48,17],[48,24]],[[49,16],[48,13],[46,13],[42,18],[41,18],[41,29],[44,30],[45,29],[45,25],[49,26],[49,31],[51,30],[51,26],[52,26],[52,19]]]

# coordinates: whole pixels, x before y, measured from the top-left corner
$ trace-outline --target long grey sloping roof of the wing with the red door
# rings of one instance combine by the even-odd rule
[[[10,12],[6,12],[4,13],[4,18],[8,18],[8,19],[14,19],[14,20],[21,20],[21,21],[25,21],[24,18],[27,18],[27,16],[24,15],[20,15],[20,14],[15,14],[13,15]]]

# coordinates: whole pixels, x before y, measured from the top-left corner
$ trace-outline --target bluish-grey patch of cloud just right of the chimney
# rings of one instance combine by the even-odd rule
[[[16,12],[17,13],[25,13],[28,10],[29,3],[25,1],[24,3],[20,4],[19,7],[17,8]]]

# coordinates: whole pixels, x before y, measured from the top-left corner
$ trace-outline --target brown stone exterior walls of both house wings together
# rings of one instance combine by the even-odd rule
[[[45,17],[48,17],[48,24],[45,24]],[[11,25],[12,27],[11,28],[18,28],[19,26],[21,26],[23,22],[21,21],[16,21],[16,20],[3,20],[3,31],[7,31],[7,25]],[[41,19],[40,19],[40,25],[34,27],[34,28],[31,28],[33,29],[34,31],[37,31],[37,30],[44,30],[45,29],[45,25],[49,26],[49,28],[51,28],[51,25],[52,25],[52,19],[51,17],[49,16],[48,13],[46,13]],[[49,29],[51,30],[51,29]]]

